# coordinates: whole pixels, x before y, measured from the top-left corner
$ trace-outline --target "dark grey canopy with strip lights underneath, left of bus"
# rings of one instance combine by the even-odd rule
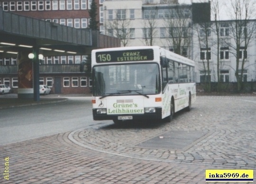
[[[17,52],[35,48],[44,56],[87,55],[97,48],[92,44],[90,29],[20,16],[0,7],[0,58],[16,58]]]

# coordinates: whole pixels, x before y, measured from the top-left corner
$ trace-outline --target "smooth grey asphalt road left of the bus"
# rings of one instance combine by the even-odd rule
[[[60,103],[0,109],[0,145],[63,133],[93,124],[91,97],[66,98],[67,101]]]

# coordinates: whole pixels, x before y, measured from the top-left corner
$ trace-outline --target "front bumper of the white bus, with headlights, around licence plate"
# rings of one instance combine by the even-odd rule
[[[97,114],[97,109],[92,109],[93,120],[117,120],[121,116],[132,116],[132,120],[162,119],[162,108],[155,108],[155,113],[144,114]]]

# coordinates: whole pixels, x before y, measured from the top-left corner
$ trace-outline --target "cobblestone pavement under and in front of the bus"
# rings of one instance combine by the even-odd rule
[[[182,150],[138,146],[170,131],[206,134]],[[256,176],[256,97],[199,96],[171,123],[102,121],[3,145],[2,173],[7,157],[4,184],[205,184],[205,170],[218,168],[254,169]]]

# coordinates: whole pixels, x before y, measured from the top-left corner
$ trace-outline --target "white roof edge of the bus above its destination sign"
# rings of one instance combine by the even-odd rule
[[[185,58],[181,55],[175,54],[172,51],[169,50],[165,50],[159,46],[133,46],[133,47],[116,47],[116,48],[106,48],[106,49],[96,49],[96,50],[92,50],[92,58],[95,55],[96,52],[108,52],[108,51],[115,51],[115,50],[142,50],[142,49],[153,49],[154,52],[156,52],[157,50],[159,50],[159,56],[163,56],[166,57],[166,59],[172,60],[172,61],[176,61],[182,64],[187,64],[190,66],[195,66],[194,61],[188,58]]]

